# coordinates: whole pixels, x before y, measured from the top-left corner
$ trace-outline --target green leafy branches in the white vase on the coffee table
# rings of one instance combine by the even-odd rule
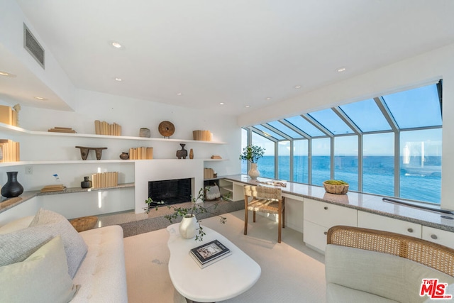
[[[148,206],[144,207],[143,209],[145,210],[145,214],[149,214],[151,209],[155,209],[157,211],[159,209],[159,206],[162,206],[162,205],[167,206],[167,209],[173,209],[174,212],[172,214],[167,214],[164,216],[165,219],[170,221],[170,223],[173,223],[173,220],[177,220],[177,219],[179,219],[179,217],[191,218],[192,216],[196,216],[197,214],[204,214],[204,213],[214,214],[211,211],[209,211],[209,208],[213,207],[214,209],[216,209],[216,207],[218,206],[218,204],[220,202],[222,202],[224,199],[229,199],[230,193],[228,193],[227,195],[221,196],[221,200],[219,200],[218,202],[216,202],[208,207],[205,207],[204,206],[204,202],[205,202],[204,191],[209,190],[209,189],[210,189],[209,186],[202,187],[201,189],[199,189],[199,193],[197,194],[197,197],[191,197],[192,206],[190,206],[190,207],[178,207],[175,205],[169,205],[162,200],[160,202],[155,202],[155,201],[153,201],[153,199],[148,198],[145,200],[145,203],[148,204]],[[222,224],[226,223],[227,218],[225,216],[221,216],[218,214],[216,214],[216,216],[221,218],[219,221]],[[196,238],[195,238],[196,241],[202,241],[206,234],[204,232],[204,228],[200,225],[200,222],[201,222],[201,220],[197,220],[197,224],[199,224],[199,228],[197,228],[199,230],[199,234],[196,235]]]

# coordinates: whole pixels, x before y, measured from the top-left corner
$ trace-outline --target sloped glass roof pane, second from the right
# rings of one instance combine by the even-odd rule
[[[388,121],[373,99],[339,106],[342,111],[363,132],[390,131]]]

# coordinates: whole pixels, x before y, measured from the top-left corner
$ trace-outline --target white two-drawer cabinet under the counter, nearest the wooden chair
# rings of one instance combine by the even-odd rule
[[[331,226],[356,226],[356,209],[304,199],[304,243],[325,251],[326,233]]]

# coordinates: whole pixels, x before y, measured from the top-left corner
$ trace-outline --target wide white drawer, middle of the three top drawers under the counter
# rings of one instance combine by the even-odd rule
[[[358,211],[358,227],[390,231],[421,238],[421,224],[370,214],[365,211]]]

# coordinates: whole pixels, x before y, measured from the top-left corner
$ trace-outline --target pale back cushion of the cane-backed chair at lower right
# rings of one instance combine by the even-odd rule
[[[326,282],[369,292],[398,302],[424,302],[423,279],[453,284],[454,277],[396,255],[329,244],[325,250]]]

